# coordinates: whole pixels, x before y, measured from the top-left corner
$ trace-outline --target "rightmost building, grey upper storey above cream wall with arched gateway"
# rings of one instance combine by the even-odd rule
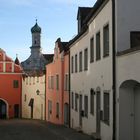
[[[140,12],[140,1],[116,0],[115,2],[116,138],[139,140],[140,20],[137,17]]]

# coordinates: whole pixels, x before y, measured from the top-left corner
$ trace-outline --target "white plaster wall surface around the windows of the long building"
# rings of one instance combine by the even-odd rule
[[[109,24],[109,56],[103,57],[103,27]],[[100,31],[101,36],[101,60],[90,63],[90,38],[94,35],[94,46],[96,46],[96,33]],[[83,52],[83,67],[84,67],[84,49],[88,48],[88,70],[79,72],[79,65],[77,73],[71,73],[71,93],[78,93],[83,95],[84,110],[84,95],[88,95],[88,118],[83,117],[82,130],[86,133],[96,132],[96,95],[94,95],[94,115],[90,114],[90,89],[95,91],[99,87],[101,89],[101,110],[103,110],[103,92],[108,91],[110,94],[110,125],[106,125],[101,121],[101,138],[103,140],[111,140],[112,137],[112,3],[109,1],[100,13],[93,19],[89,25],[89,30],[85,33],[81,39],[73,44],[70,48],[70,57],[75,54],[78,55],[79,64],[79,52]],[[96,56],[96,49],[94,47],[94,56]],[[74,60],[75,62],[75,60]],[[74,64],[75,66],[75,64]],[[70,66],[71,67],[71,66]],[[83,68],[84,69],[84,68]],[[75,102],[75,100],[74,100]],[[78,99],[79,109],[79,99]],[[79,126],[79,111],[76,112],[71,109],[71,126],[73,128]]]

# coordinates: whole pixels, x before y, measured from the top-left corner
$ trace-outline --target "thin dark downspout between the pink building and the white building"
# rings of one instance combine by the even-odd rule
[[[68,66],[69,66],[69,128],[70,128],[71,127],[70,126],[70,124],[71,124],[71,117],[70,117],[71,116],[71,111],[70,111],[70,109],[71,109],[71,102],[70,102],[71,101],[70,100],[70,91],[71,91],[70,90],[70,88],[71,88],[71,86],[70,86],[70,84],[71,84],[70,83],[70,78],[71,78],[70,77],[70,49],[69,49],[69,54],[68,55],[69,55],[69,65]]]

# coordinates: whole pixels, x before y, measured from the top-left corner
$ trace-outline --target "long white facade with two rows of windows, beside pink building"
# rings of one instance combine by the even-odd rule
[[[71,127],[111,140],[112,1],[97,1],[91,12],[86,31],[70,42]]]

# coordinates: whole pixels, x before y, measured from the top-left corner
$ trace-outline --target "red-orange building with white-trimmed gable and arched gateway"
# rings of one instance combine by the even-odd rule
[[[22,69],[0,49],[0,119],[21,117]]]

